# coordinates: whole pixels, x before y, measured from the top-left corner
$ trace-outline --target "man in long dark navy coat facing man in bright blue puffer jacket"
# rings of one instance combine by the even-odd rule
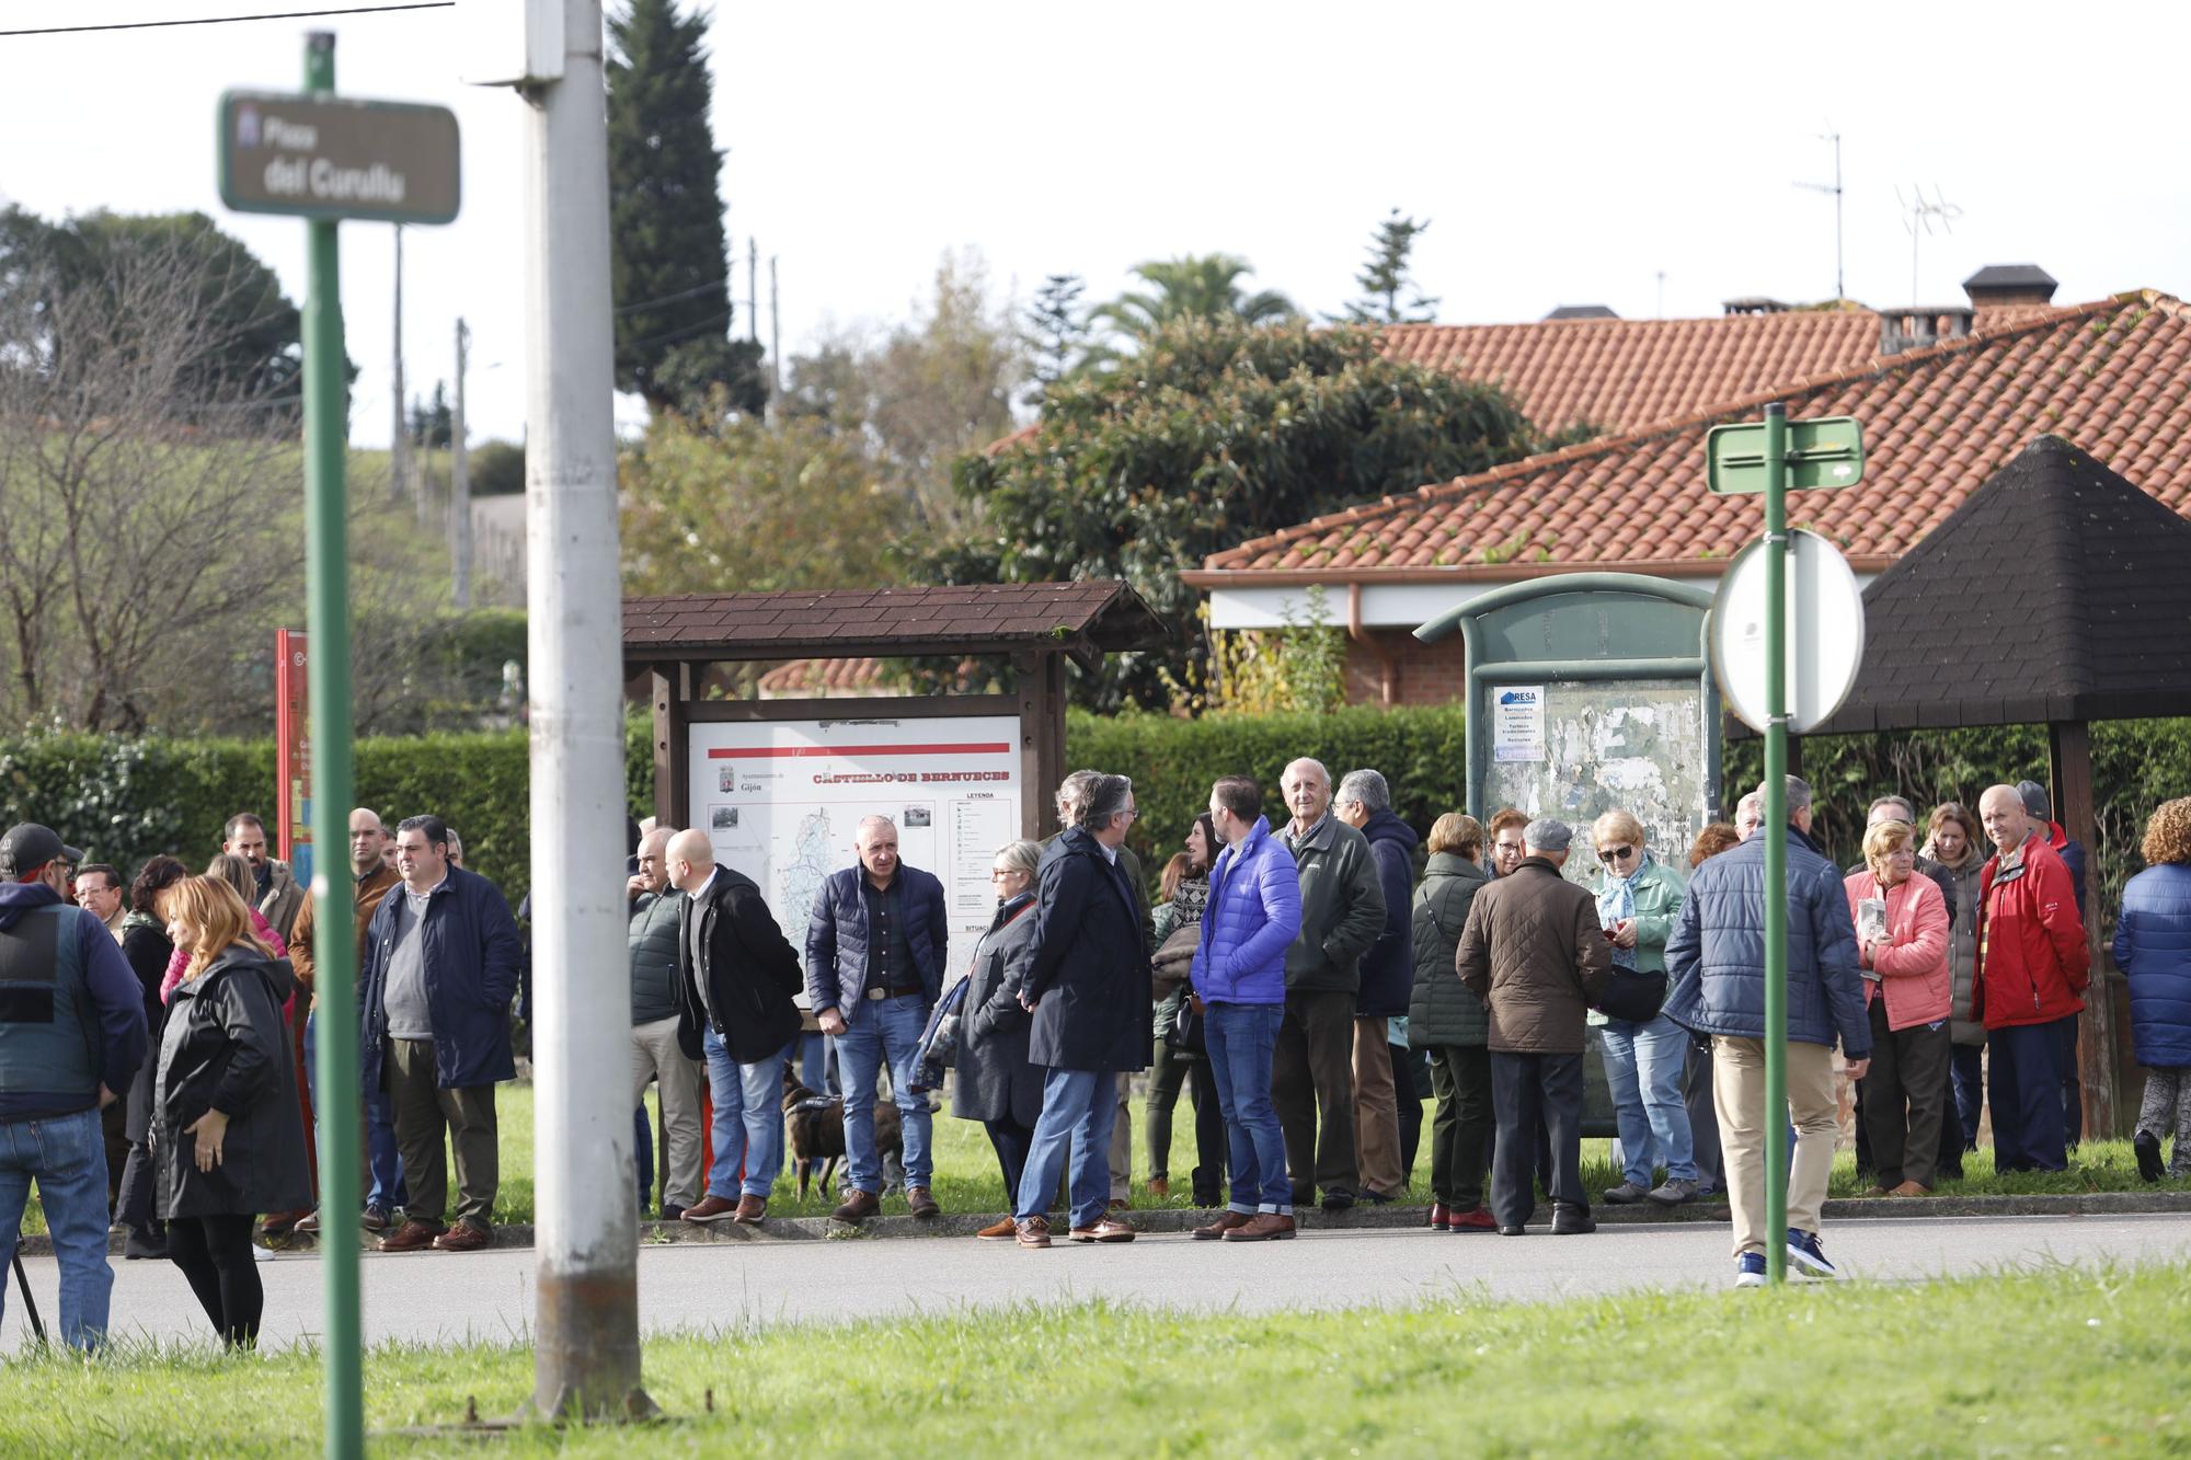
[[[1045,1065],[1043,1118],[1034,1125],[1012,1217],[1021,1247],[1049,1245],[1049,1197],[1071,1147],[1071,1239],[1131,1243],[1133,1228],[1109,1214],[1111,1098],[1117,1074],[1148,1068],[1148,938],[1117,848],[1133,826],[1133,783],[1098,776],[1078,820],[1041,866],[1034,943],[1006,973],[1034,1015],[1028,1059]]]

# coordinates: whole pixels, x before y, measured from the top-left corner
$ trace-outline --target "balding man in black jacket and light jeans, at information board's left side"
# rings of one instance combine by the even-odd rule
[[[800,1033],[800,958],[752,877],[716,866],[706,831],[679,831],[668,851],[677,916],[677,1043],[708,1057],[714,1098],[714,1166],[708,1195],[686,1221],[745,1225],[769,1217],[769,1188],[784,1164],[784,1059]],[[745,1179],[738,1179],[738,1168]],[[732,1186],[738,1188],[732,1204]]]

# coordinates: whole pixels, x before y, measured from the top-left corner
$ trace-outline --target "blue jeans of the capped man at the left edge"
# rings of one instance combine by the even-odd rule
[[[53,1120],[0,1125],[0,1232],[15,1258],[31,1182],[46,1208],[53,1256],[61,1267],[61,1342],[99,1348],[107,1342],[107,1140],[96,1109]],[[7,1265],[0,1263],[0,1311],[7,1309]]]

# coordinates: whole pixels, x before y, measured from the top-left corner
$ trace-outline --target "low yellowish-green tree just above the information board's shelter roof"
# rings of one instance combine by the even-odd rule
[[[706,430],[662,417],[624,454],[624,590],[692,594],[894,583],[905,524],[857,438],[813,419]]]

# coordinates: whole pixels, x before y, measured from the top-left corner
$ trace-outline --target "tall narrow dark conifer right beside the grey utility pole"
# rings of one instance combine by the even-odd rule
[[[609,20],[609,272],[616,386],[649,410],[760,414],[760,344],[734,340],[723,153],[708,125],[708,13],[631,0]]]

